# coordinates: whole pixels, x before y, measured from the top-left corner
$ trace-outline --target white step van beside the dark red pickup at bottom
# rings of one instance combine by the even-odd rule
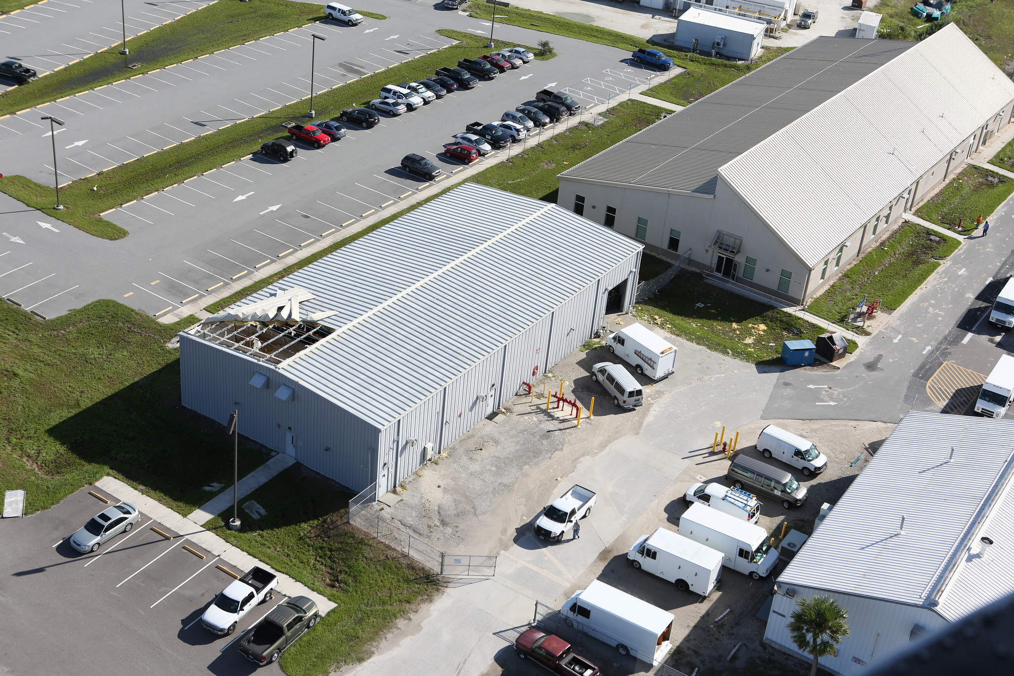
[[[560,614],[567,626],[651,665],[660,664],[672,650],[672,613],[598,580],[570,597]]]

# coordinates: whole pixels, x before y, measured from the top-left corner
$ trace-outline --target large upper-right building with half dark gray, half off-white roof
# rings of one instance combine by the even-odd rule
[[[817,37],[567,169],[558,203],[805,302],[1012,109],[1014,83],[954,23],[918,43]]]

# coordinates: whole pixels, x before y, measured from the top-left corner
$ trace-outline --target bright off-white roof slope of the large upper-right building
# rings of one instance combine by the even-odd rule
[[[719,170],[811,268],[1014,98],[956,25],[913,45]]]

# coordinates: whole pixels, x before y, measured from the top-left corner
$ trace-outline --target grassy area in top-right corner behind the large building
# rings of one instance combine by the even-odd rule
[[[919,40],[942,24],[910,13],[911,0],[882,0],[874,8],[883,14],[880,37]],[[998,66],[1014,58],[1014,0],[959,0],[951,5],[951,20]]]

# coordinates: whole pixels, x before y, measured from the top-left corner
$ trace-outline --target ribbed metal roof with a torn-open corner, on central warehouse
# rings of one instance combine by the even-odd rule
[[[566,209],[465,183],[259,291],[301,287],[336,332],[287,375],[384,427],[642,246]]]

